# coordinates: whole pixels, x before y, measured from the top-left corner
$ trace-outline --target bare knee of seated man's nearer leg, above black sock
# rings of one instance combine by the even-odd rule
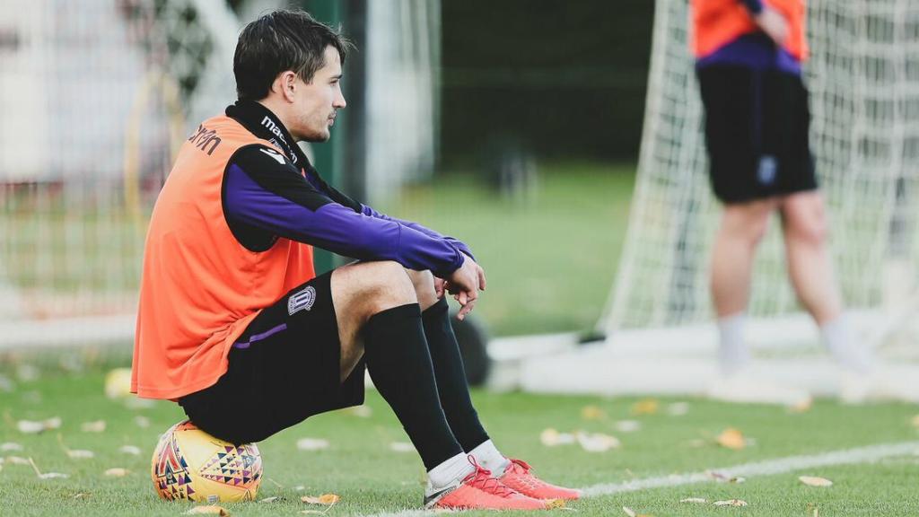
[[[336,310],[357,310],[367,316],[418,301],[405,269],[392,261],[361,262],[338,268],[332,273],[332,292],[336,301],[346,305],[336,306]]]

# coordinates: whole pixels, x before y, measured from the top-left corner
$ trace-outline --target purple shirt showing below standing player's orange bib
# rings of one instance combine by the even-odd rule
[[[746,6],[751,15],[758,15],[763,11],[762,0],[738,2]],[[696,61],[697,68],[714,64],[743,66],[759,71],[776,70],[794,75],[801,73],[800,61],[760,30],[743,34]]]

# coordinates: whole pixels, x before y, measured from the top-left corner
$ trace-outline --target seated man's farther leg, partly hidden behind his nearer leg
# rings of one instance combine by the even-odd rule
[[[472,406],[466,372],[463,369],[459,343],[449,322],[446,298],[437,298],[434,276],[430,271],[406,270],[421,305],[425,339],[431,354],[437,393],[450,430],[463,450],[471,454],[505,485],[536,499],[577,499],[577,490],[550,485],[534,477],[529,466],[501,454],[482,427]]]

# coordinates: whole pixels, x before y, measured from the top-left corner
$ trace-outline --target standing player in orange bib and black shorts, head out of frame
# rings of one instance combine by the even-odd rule
[[[754,382],[745,369],[751,270],[773,213],[781,216],[791,283],[825,345],[857,377],[871,362],[846,323],[826,244],[801,80],[806,6],[804,0],[693,0],[692,7],[710,178],[724,205],[711,263],[723,378],[711,395],[795,403],[808,395]]]

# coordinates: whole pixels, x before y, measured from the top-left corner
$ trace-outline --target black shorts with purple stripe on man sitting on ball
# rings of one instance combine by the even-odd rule
[[[230,351],[217,381],[183,396],[195,425],[232,443],[260,442],[312,415],[364,403],[364,362],[344,383],[332,273],[267,307]]]

